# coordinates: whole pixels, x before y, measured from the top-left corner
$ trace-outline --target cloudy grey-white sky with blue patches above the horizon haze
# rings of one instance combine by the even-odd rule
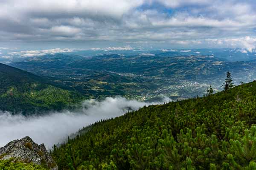
[[[255,0],[0,0],[0,48],[250,51],[255,8]]]

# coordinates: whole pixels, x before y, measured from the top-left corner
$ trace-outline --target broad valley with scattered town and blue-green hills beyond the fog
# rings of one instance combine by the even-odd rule
[[[190,98],[203,95],[209,84],[215,91],[221,90],[227,71],[235,84],[256,79],[255,60],[231,62],[212,54],[189,55],[195,52],[183,50],[181,53],[186,55],[181,55],[180,51],[93,57],[55,54],[11,65],[50,77],[56,85],[73,88],[91,98],[121,95],[146,100],[162,94],[172,99]]]

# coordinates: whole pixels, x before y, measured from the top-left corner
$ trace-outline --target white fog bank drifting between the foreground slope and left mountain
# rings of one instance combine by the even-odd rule
[[[36,143],[44,143],[48,148],[62,142],[71,133],[101,119],[116,117],[124,114],[129,108],[137,110],[144,105],[168,102],[139,102],[122,97],[107,97],[99,102],[94,99],[84,101],[81,111],[62,111],[48,113],[45,116],[11,115],[0,112],[0,147],[8,142],[30,136]]]

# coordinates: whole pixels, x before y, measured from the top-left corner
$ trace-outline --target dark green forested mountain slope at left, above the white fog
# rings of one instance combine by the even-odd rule
[[[30,113],[73,107],[82,97],[44,78],[0,63],[0,110]]]

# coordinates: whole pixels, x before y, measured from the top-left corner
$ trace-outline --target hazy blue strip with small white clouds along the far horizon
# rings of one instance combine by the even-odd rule
[[[93,57],[108,54],[160,54],[169,53],[172,56],[181,55],[215,55],[218,58],[227,59],[227,61],[249,61],[256,57],[256,48],[190,48],[190,49],[175,49],[175,48],[162,48],[162,49],[147,49],[147,48],[133,48],[131,46],[124,47],[109,47],[109,48],[52,48],[44,50],[19,50],[6,48],[1,49],[0,61],[1,62],[18,62],[23,61],[29,57],[43,56],[46,54],[67,54],[84,57]]]

